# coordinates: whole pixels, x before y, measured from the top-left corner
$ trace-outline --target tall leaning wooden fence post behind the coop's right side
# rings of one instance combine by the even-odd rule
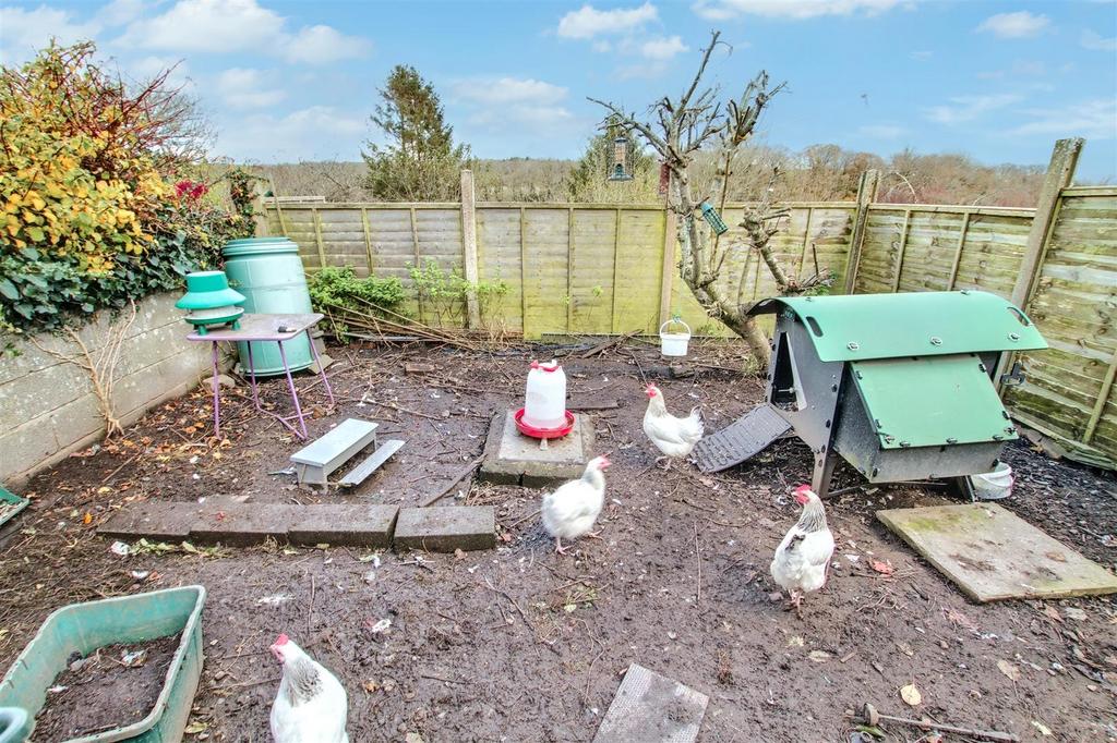
[[[1086,139],[1082,137],[1059,139],[1051,151],[1051,162],[1048,164],[1043,185],[1040,186],[1040,196],[1035,202],[1035,216],[1032,218],[1032,228],[1028,231],[1028,242],[1024,243],[1024,258],[1020,263],[1016,283],[1012,288],[1012,303],[1025,312],[1032,290],[1035,288],[1035,280],[1043,269],[1043,255],[1047,253],[1048,240],[1051,238],[1051,229],[1059,212],[1059,196],[1075,180],[1075,168],[1078,166],[1078,156],[1082,152],[1083,144]],[[1001,393],[1003,387],[1001,377],[1012,368],[1015,356],[1015,354],[1001,354],[1001,364],[993,376],[997,393]]]

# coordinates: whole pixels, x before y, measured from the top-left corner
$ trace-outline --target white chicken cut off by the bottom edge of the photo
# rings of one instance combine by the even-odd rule
[[[286,635],[277,637],[269,649],[283,666],[271,705],[275,742],[349,743],[349,698],[341,682]]]

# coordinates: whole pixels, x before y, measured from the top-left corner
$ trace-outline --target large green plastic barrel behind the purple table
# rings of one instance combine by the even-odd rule
[[[287,238],[245,238],[226,244],[225,272],[229,283],[245,295],[245,311],[261,315],[306,313],[311,292],[298,257],[298,245]],[[292,372],[311,366],[311,344],[305,335],[283,345]],[[240,365],[247,372],[248,344],[237,344]],[[252,344],[251,368],[257,375],[283,374],[278,344]]]

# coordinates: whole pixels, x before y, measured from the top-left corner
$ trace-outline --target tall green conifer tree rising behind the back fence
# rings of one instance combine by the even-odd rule
[[[459,173],[471,164],[469,146],[454,144],[435,88],[413,67],[397,65],[380,98],[371,120],[388,143],[369,142],[362,153],[365,186],[384,201],[456,201]]]

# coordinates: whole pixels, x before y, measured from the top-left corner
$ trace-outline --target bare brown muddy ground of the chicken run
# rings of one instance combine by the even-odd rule
[[[784,611],[770,596],[767,565],[798,518],[789,493],[808,479],[809,452],[779,442],[715,476],[650,469],[641,373],[666,368],[638,344],[565,361],[572,399],[619,403],[592,414],[598,448],[613,462],[603,539],[576,542],[566,557],[554,554],[533,515],[540,491],[483,484],[457,502],[497,506],[493,552],[268,546],[122,558],[95,534],[114,509],[142,499],[417,504],[479,455],[491,414],[519,403],[526,363],[548,355],[331,353],[336,409],[315,378],[299,380],[317,416],[312,435],[350,416],[380,421],[382,433],[408,444],[378,475],[355,493],[323,496],[267,474],[299,444],[254,413],[244,386],[226,392],[225,441],[211,437],[206,390],[153,411],[115,443],[37,477],[31,506],[0,533],[0,668],[59,606],[202,583],[207,658],[188,740],[269,739],[279,669],[267,647],[279,633],[342,679],[354,742],[408,733],[427,743],[590,741],[633,662],[709,695],[706,742],[849,741],[855,722],[846,713],[865,702],[1025,741],[1117,740],[1114,600],[968,602],[873,518],[881,506],[949,502],[943,490],[878,489],[828,502],[839,567],[808,597],[802,619]],[[674,411],[701,403],[716,431],[761,399],[762,383],[732,370],[739,368],[733,347],[706,347],[696,359],[709,366],[656,378]],[[277,409],[284,395],[283,383],[265,385]],[[1113,569],[1114,476],[1023,443],[1006,460],[1020,476],[1005,504]],[[849,472],[839,477],[839,488],[857,482]],[[877,572],[873,560],[895,571]],[[139,580],[133,571],[151,573]],[[381,619],[392,620],[390,630],[373,633]],[[908,684],[922,693],[918,708],[899,697]],[[928,740],[910,727],[885,730],[889,741]]]

